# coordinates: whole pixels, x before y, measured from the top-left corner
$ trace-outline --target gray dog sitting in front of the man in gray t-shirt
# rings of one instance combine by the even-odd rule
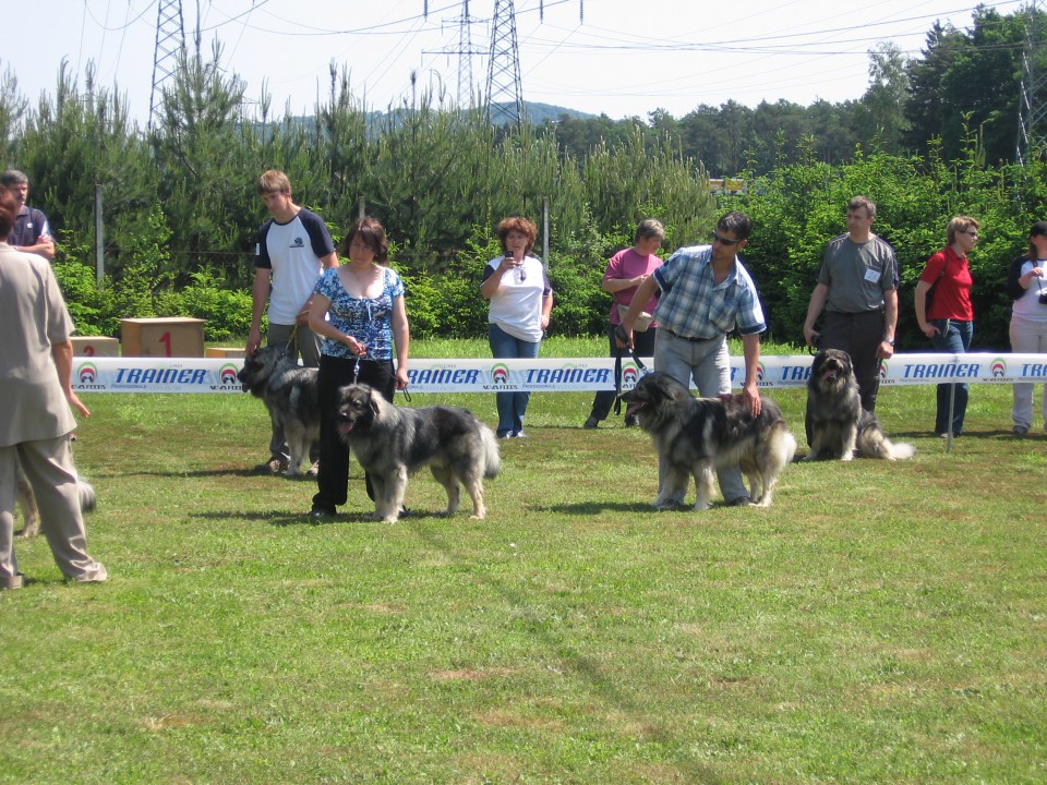
[[[807,424],[813,460],[862,458],[905,460],[916,455],[911,444],[892,443],[880,427],[880,419],[862,408],[858,383],[851,355],[825,349],[815,355],[807,379]]]

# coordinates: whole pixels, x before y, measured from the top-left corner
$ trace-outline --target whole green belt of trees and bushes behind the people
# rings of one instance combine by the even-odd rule
[[[264,88],[261,101],[245,99],[219,45],[205,52],[197,43],[167,83],[159,119],[141,129],[89,64],[83,84],[63,67],[55,94],[33,106],[7,63],[0,138],[7,166],[28,174],[31,203],[50,218],[55,269],[83,335],[118,335],[125,317],[182,315],[207,319],[210,340],[242,338],[267,217],[254,182],[278,168],[336,242],[361,213],[383,222],[419,337],[485,334],[479,282],[498,253],[494,228],[517,214],[541,228],[547,203],[551,329],[604,331],[605,259],[630,244],[640,219],[665,224],[667,254],[705,242],[720,213],[743,209],[756,225],[744,258],[769,337],[799,342],[825,243],[844,231],[846,202],[862,193],[879,205],[875,229],[900,261],[900,347],[925,348],[912,290],[949,218],[966,214],[982,222],[971,255],[974,346],[1006,349],[1007,265],[1026,247],[1031,224],[1047,217],[1042,150],[1018,156],[1023,74],[1047,68],[1047,57],[1028,60],[1047,52],[1030,46],[1045,21],[1033,9],[979,9],[966,29],[932,27],[918,58],[881,44],[869,52],[865,95],[842,104],[727,101],[679,119],[564,113],[502,128],[426,90],[370,110],[348,64],[336,63],[312,117],[280,114]],[[739,178],[744,189],[714,192],[710,176]]]

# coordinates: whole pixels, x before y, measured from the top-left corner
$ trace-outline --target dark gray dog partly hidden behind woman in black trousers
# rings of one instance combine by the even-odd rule
[[[310,448],[320,440],[320,388],[316,369],[302,367],[279,347],[265,347],[249,357],[237,378],[244,392],[261,398],[274,424],[284,428],[291,459],[287,475],[301,472]]]

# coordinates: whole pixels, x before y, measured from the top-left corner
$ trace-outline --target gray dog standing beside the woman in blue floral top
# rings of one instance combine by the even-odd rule
[[[428,466],[447,491],[445,515],[460,500],[459,482],[472,497],[472,517],[483,518],[483,478],[502,466],[494,432],[468,409],[396,407],[369,385],[342,387],[338,432],[371,478],[374,515],[393,523],[399,516],[410,474]]]

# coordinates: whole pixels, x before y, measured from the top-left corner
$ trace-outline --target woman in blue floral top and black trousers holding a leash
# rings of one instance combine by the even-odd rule
[[[361,218],[338,246],[349,261],[324,271],[316,283],[309,327],[323,336],[320,358],[320,490],[310,515],[335,515],[349,493],[349,447],[336,427],[338,390],[368,384],[386,400],[407,388],[407,353],[411,342],[404,281],[387,267],[389,243],[374,218]],[[396,365],[393,354],[396,353]],[[366,479],[368,495],[374,498]]]

